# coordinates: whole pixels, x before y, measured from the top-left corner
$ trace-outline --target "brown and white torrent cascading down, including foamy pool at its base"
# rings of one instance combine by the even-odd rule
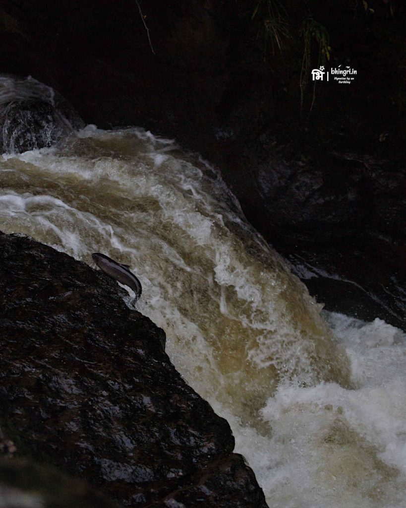
[[[4,154],[0,182],[3,231],[130,265],[137,309],[228,419],[270,506],[406,506],[406,336],[325,313],[334,338],[209,165],[141,129],[87,126]]]

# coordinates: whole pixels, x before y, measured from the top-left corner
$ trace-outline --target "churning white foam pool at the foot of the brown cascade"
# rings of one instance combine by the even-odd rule
[[[269,506],[404,508],[406,334],[379,319],[324,314],[352,360],[357,389],[281,384],[262,409],[270,435],[226,415],[236,450]]]

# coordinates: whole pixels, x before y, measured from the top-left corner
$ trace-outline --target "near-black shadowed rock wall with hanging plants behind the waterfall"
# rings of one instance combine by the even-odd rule
[[[404,328],[406,8],[332,4],[6,0],[0,71],[200,152],[327,308]]]

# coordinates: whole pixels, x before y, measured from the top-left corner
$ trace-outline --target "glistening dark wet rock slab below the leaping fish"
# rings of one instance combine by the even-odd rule
[[[127,506],[266,507],[227,422],[114,281],[14,235],[0,235],[0,266],[0,426],[17,455]]]

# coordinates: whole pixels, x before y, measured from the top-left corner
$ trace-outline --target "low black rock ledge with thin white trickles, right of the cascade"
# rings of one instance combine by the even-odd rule
[[[364,321],[379,316],[406,330],[406,263],[397,259],[404,260],[404,255],[393,243],[375,239],[369,249],[308,248],[286,253],[285,258],[326,310]]]

